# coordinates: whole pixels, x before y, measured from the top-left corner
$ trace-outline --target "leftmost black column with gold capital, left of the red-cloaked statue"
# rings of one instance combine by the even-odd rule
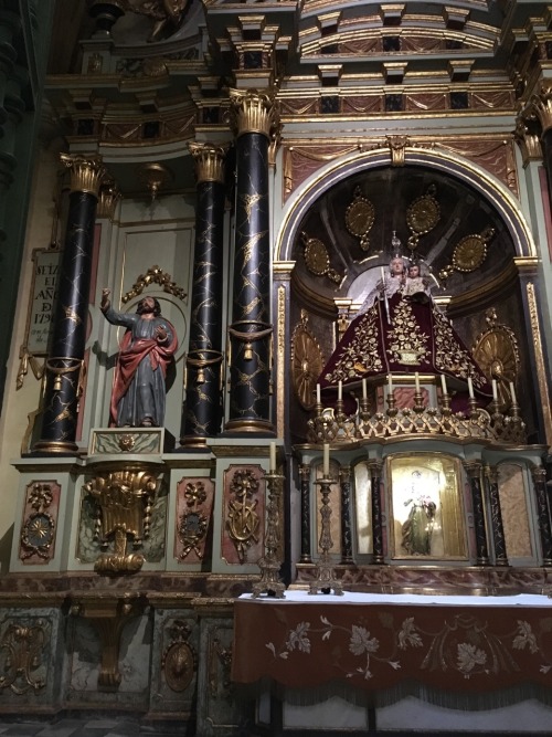
[[[42,432],[34,448],[46,453],[74,453],[77,450],[77,407],[84,380],[94,223],[99,186],[105,176],[99,157],[63,154],[61,160],[71,173],[67,230],[52,348],[46,360]]]

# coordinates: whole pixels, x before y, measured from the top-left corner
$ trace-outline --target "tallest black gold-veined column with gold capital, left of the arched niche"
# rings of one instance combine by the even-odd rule
[[[278,129],[272,95],[231,91],[236,135],[235,252],[226,431],[269,432],[272,324],[268,147]]]

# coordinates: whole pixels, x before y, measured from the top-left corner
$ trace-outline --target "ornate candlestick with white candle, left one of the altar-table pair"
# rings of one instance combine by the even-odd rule
[[[284,476],[276,473],[276,443],[270,443],[269,471],[265,475],[268,487],[266,505],[265,555],[259,559],[261,579],[253,585],[253,598],[266,594],[275,599],[284,599],[286,586],[280,578],[282,526],[280,526],[280,489]]]

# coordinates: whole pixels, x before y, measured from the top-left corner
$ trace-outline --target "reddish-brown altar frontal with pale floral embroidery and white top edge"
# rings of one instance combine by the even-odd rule
[[[241,597],[234,614],[236,684],[268,680],[301,689],[342,682],[381,693],[408,681],[447,692],[552,691],[552,601],[544,596],[286,591],[285,600]]]

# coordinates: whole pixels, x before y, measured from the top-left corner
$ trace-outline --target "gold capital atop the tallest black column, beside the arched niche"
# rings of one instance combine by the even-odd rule
[[[236,137],[261,133],[273,140],[279,131],[279,108],[273,92],[230,91],[231,123]]]

